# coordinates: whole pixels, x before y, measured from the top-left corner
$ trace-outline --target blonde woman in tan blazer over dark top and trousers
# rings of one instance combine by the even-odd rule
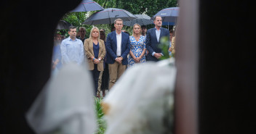
[[[85,59],[89,65],[89,70],[92,72],[96,96],[100,71],[104,70],[103,59],[105,57],[105,44],[104,41],[100,39],[99,28],[92,28],[89,38],[84,41],[84,52],[84,55],[87,56]]]

